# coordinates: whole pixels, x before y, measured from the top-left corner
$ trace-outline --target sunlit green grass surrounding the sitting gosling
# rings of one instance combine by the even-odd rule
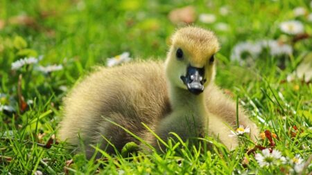
[[[213,151],[181,148],[168,142],[166,154],[139,152],[123,157],[102,152],[100,160],[71,154],[62,142],[49,148],[51,141],[55,143],[51,136],[58,136],[62,98],[76,80],[92,71],[92,67],[104,65],[107,57],[123,51],[139,59],[164,59],[168,37],[176,28],[168,20],[168,12],[190,4],[198,14],[216,15],[213,24],[195,21],[196,26],[214,30],[220,39],[216,84],[238,99],[261,131],[269,130],[277,135],[273,138],[274,149],[283,156],[293,158],[299,154],[304,161],[311,157],[312,85],[300,79],[287,82],[286,77],[311,53],[312,42],[311,39],[290,42],[293,36],[279,30],[281,21],[297,19],[311,36],[311,21],[293,15],[297,6],[311,12],[309,1],[0,0],[0,4],[0,102],[14,109],[0,111],[1,174],[36,171],[94,174],[98,169],[100,174],[285,174],[290,171],[290,164],[260,167],[254,155],[247,154],[254,145],[245,140],[235,151],[228,151],[207,138],[215,142]],[[219,9],[225,5],[229,14],[221,15]],[[16,18],[21,15],[24,19]],[[218,30],[218,22],[228,24],[228,30]],[[237,43],[257,39],[284,39],[293,47],[293,54],[272,57],[264,52],[252,59],[252,64],[243,66],[229,59]],[[11,70],[12,62],[39,55],[43,55],[39,64],[62,64],[63,69],[48,74],[37,71],[34,65]],[[33,102],[26,105],[28,100]],[[45,134],[42,138],[38,137],[42,134]],[[270,146],[268,138],[259,140],[258,144]],[[71,159],[73,163],[64,170]],[[310,162],[305,173],[311,171]]]

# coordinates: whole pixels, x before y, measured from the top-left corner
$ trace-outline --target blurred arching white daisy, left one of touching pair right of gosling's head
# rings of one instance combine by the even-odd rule
[[[252,42],[241,42],[236,44],[232,50],[231,59],[243,62],[243,53],[250,54],[251,57],[258,57],[261,53],[261,45]]]

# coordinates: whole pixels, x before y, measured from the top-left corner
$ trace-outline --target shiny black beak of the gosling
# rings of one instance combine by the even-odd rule
[[[181,80],[185,85],[187,85],[187,89],[196,95],[202,93],[204,91],[204,83],[205,79],[205,67],[196,68],[191,65],[187,67],[187,75],[181,76]]]

